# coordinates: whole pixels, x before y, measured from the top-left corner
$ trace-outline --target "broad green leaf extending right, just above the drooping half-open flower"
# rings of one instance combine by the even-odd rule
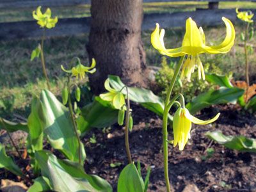
[[[195,114],[201,109],[208,108],[214,104],[236,103],[237,99],[243,95],[244,90],[240,88],[220,88],[207,93],[202,93],[186,104],[190,113]]]

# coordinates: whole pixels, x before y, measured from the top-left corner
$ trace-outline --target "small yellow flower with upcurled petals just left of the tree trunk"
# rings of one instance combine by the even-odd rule
[[[61,69],[69,74],[72,74],[74,77],[80,77],[80,79],[84,79],[85,73],[88,72],[90,74],[93,74],[96,71],[95,65],[96,61],[94,58],[92,58],[92,65],[91,67],[85,67],[84,65],[81,64],[80,60],[77,58],[77,65],[76,67],[72,67],[71,70],[66,70],[63,65],[61,65]]]

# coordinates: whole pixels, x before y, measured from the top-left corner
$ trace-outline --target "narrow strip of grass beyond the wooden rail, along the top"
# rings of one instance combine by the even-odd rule
[[[207,8],[207,2],[184,1],[184,2],[162,2],[162,3],[144,3],[144,13],[173,13],[195,11],[196,8]],[[252,2],[220,2],[220,9],[226,8],[247,8],[256,9],[256,3]],[[32,12],[35,8],[23,9],[0,9],[0,22],[15,22],[22,20],[33,20]],[[90,4],[79,6],[52,7],[52,14],[59,18],[89,17]],[[44,8],[43,10],[44,11]]]

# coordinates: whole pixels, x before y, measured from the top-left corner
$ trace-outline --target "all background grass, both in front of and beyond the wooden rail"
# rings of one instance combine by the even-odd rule
[[[159,4],[144,4],[145,12],[172,12],[175,8],[180,9],[195,9],[198,4],[200,6],[207,6],[205,3],[159,3]],[[235,4],[235,5],[234,5]],[[251,6],[252,3],[233,3],[229,4],[229,7],[243,6],[243,8]],[[220,3],[221,8],[227,8],[227,3]],[[255,6],[255,5],[254,5]],[[252,7],[251,7],[252,8]],[[90,7],[87,7],[89,10]],[[80,15],[89,14],[89,12],[83,12],[83,9],[79,12],[72,10],[72,13],[68,10],[59,10],[59,13],[63,15]],[[54,12],[54,10],[52,10]],[[67,14],[66,14],[67,13]],[[0,15],[7,13],[0,12]],[[31,14],[31,12],[29,12]],[[12,15],[12,12],[10,12]],[[8,17],[11,17],[11,16]],[[14,14],[15,15],[15,14]],[[28,19],[28,17],[22,17],[26,15],[20,13],[19,19]],[[61,16],[61,17],[62,17]],[[4,16],[5,19],[8,17]],[[12,16],[16,18],[16,16]],[[0,20],[4,20],[0,16]],[[12,20],[12,19],[11,19]],[[239,39],[239,33],[243,30],[243,26],[236,26],[236,44],[232,51],[228,54],[202,54],[200,58],[203,63],[214,63],[220,67],[223,74],[233,72],[236,79],[244,79],[244,58],[243,47]],[[225,38],[225,28],[220,26],[218,28],[205,28],[205,35],[207,44],[216,44]],[[161,65],[162,56],[152,48],[150,45],[150,33],[151,31],[143,31],[142,39],[145,44],[145,51],[147,53],[148,65]],[[167,29],[166,30],[166,47],[177,47],[182,42],[182,36],[184,35],[184,29]],[[10,117],[11,113],[18,113],[22,116],[28,116],[29,103],[33,95],[39,95],[43,88],[46,88],[44,78],[42,76],[40,60],[36,59],[30,61],[31,51],[38,44],[38,40],[12,40],[9,42],[0,42],[0,116]],[[88,63],[88,57],[86,53],[85,45],[88,42],[88,34],[82,36],[69,36],[51,38],[45,41],[45,58],[49,76],[52,80],[52,92],[56,95],[60,95],[63,87],[64,73],[60,69],[60,65],[67,65],[74,56],[81,58],[83,63]],[[255,39],[251,42],[255,44]],[[168,62],[173,60],[167,59]],[[174,59],[175,60],[175,59]],[[251,65],[251,76],[256,75],[255,69],[255,57],[250,55],[249,61]],[[254,79],[255,80],[255,79]]]

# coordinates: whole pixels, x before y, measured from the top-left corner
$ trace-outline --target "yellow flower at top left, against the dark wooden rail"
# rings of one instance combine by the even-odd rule
[[[54,28],[56,23],[58,22],[58,17],[55,17],[54,19],[51,18],[52,12],[50,8],[47,8],[45,13],[43,14],[41,12],[41,6],[38,6],[36,8],[36,11],[33,11],[33,18],[37,20],[37,24],[40,25],[42,28]]]

